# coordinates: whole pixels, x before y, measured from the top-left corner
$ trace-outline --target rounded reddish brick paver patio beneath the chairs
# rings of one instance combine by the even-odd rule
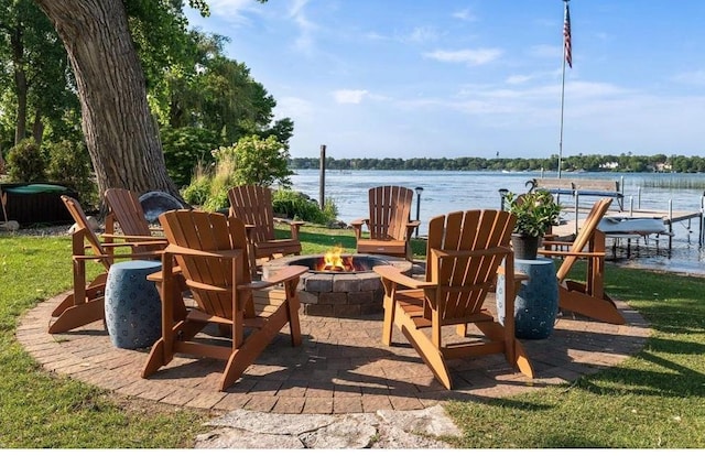
[[[444,400],[478,400],[571,382],[614,366],[639,351],[649,327],[618,302],[628,324],[609,325],[561,316],[550,338],[523,340],[535,379],[514,373],[503,356],[455,360],[453,391],[431,374],[397,330],[391,347],[381,344],[381,314],[365,318],[301,315],[303,344],[286,334],[228,391],[217,391],[224,363],[177,357],[149,379],[140,377],[148,349],[115,348],[101,322],[65,334],[47,333],[51,312],[64,295],[31,310],[17,337],[44,369],[119,394],[162,403],[230,411],[354,413],[415,410]]]

